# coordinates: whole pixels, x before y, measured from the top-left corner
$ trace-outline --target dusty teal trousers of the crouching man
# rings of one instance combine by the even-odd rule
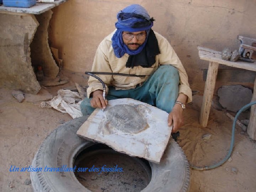
[[[149,79],[134,89],[116,90],[109,86],[106,99],[133,98],[170,113],[178,97],[179,82],[178,70],[174,66],[161,65]],[[95,110],[91,107],[91,98],[84,98],[80,104],[84,115],[89,115]]]

